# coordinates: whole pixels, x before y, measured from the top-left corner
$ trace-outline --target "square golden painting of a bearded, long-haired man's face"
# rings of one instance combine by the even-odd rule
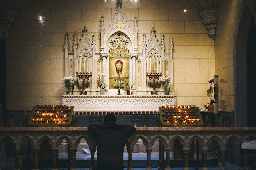
[[[109,78],[129,79],[129,58],[128,57],[110,57],[109,58]]]

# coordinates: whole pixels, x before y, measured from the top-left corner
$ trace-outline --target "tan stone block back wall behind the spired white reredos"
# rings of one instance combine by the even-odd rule
[[[104,15],[108,30],[116,7],[116,0],[30,0],[18,12],[6,39],[7,109],[61,104],[65,32],[69,35],[68,52],[72,52],[74,32],[79,39],[86,26],[88,38],[96,36],[96,53],[99,53],[101,16]],[[184,8],[187,12],[183,12]],[[177,104],[202,107],[209,102],[206,91],[210,87],[208,81],[214,78],[214,40],[208,37],[199,17],[200,10],[188,0],[122,0],[122,9],[131,31],[134,16],[138,16],[139,53],[142,53],[142,34],[145,32],[148,41],[152,27],[159,40],[164,33],[165,52],[169,52],[168,40],[173,38]],[[215,60],[219,62],[217,57]],[[228,97],[228,101],[231,99],[232,96]]]

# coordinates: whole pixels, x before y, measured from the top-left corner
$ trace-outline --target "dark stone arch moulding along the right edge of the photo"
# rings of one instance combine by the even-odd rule
[[[254,19],[256,23],[256,11],[254,10],[256,2],[253,0],[244,0],[242,2],[238,19],[236,22],[234,35],[234,126],[248,126],[248,105],[247,105],[247,87],[246,87],[246,43],[250,22]],[[239,104],[238,104],[239,103]],[[239,114],[238,114],[239,113]],[[241,114],[240,114],[241,113]],[[240,121],[244,120],[246,121]]]

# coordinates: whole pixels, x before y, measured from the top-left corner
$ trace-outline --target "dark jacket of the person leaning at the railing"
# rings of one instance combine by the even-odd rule
[[[96,140],[97,166],[123,166],[124,145],[135,132],[134,126],[106,121],[103,125],[90,125],[88,132]]]

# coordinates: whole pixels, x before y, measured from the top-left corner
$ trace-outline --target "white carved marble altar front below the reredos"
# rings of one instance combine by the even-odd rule
[[[163,104],[176,105],[176,96],[62,96],[74,111],[159,111]]]

